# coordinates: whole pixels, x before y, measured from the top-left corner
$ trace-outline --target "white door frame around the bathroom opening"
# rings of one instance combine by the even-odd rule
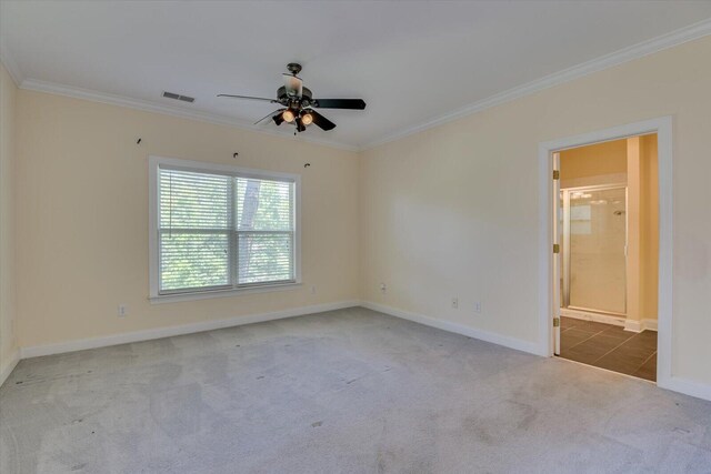
[[[539,144],[539,352],[553,355],[553,152],[588,144],[657,133],[659,160],[659,327],[657,385],[672,390],[672,118],[645,120]]]

